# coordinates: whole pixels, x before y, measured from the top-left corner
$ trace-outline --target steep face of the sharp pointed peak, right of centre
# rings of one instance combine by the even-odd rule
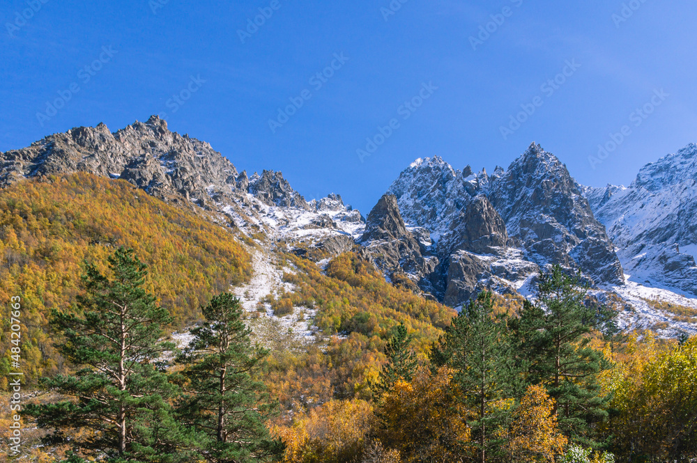
[[[510,237],[538,265],[581,269],[597,284],[624,283],[622,265],[566,166],[533,144],[487,195]]]

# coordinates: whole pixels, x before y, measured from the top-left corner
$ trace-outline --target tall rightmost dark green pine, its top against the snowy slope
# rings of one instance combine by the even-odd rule
[[[589,425],[607,416],[598,377],[608,362],[590,347],[589,335],[612,330],[615,313],[591,304],[587,292],[579,276],[553,267],[540,275],[537,302],[526,301],[514,331],[519,359],[528,363],[528,382],[546,386],[560,429],[574,441],[592,444]]]

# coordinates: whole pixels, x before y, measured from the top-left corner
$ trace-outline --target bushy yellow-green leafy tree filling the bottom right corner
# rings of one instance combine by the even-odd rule
[[[697,337],[661,348],[652,336],[630,341],[608,381],[615,410],[605,432],[627,460],[697,457]]]

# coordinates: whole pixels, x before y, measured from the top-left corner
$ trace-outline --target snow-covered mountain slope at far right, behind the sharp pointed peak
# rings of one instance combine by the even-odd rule
[[[585,188],[632,281],[697,295],[697,145],[647,164],[629,187]]]

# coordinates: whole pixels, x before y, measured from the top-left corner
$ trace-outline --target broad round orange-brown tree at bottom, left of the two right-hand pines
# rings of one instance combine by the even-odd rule
[[[397,448],[404,462],[461,462],[472,453],[470,411],[459,400],[450,368],[434,375],[420,368],[411,382],[398,380],[383,396],[379,414],[383,442]]]

